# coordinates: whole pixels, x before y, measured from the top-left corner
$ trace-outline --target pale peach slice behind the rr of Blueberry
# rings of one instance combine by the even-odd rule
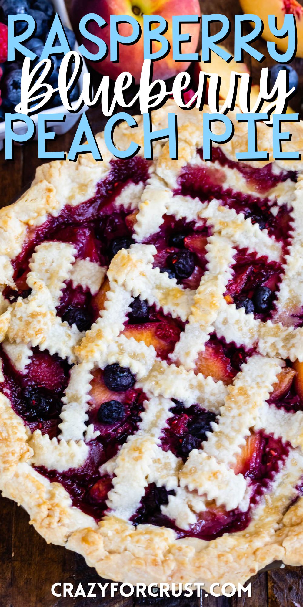
[[[225,49],[224,46],[222,46],[222,45],[218,45],[218,46],[221,49],[226,50],[227,53],[229,52],[227,49]],[[224,61],[224,59],[221,59],[221,57],[219,57],[215,53],[211,53],[210,63],[202,63],[201,61],[195,63],[194,81],[195,81],[196,87],[198,87],[199,75],[200,75],[201,71],[206,72],[208,74],[215,73],[215,74],[219,74],[219,76],[221,76],[220,93],[219,93],[220,99],[227,98],[228,90],[230,87],[231,72],[239,72],[239,73],[244,73],[244,74],[250,73],[250,71],[248,70],[248,67],[245,63],[236,63],[236,61],[234,59],[231,59],[230,63],[226,63],[226,61]],[[238,89],[239,89],[239,86],[238,86]],[[237,100],[238,100],[238,95],[239,95],[239,91],[237,93]]]

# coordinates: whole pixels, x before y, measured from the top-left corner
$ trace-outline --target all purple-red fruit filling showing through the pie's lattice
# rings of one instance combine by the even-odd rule
[[[213,151],[214,161],[216,166],[210,164],[207,168],[185,166],[175,194],[198,197],[202,202],[217,198],[222,205],[244,213],[245,218],[250,217],[251,223],[258,223],[261,230],[267,229],[270,236],[283,241],[286,251],[291,223],[286,207],[280,206],[278,212],[273,214],[273,201],[269,198],[226,189],[224,168],[241,172],[260,196],[286,180],[296,181],[296,173],[276,172],[270,164],[257,170],[233,163],[220,148]],[[13,304],[18,297],[25,299],[30,295],[26,280],[30,260],[36,246],[42,242],[70,243],[76,251],[76,260],[96,263],[104,268],[105,274],[113,257],[121,249],[128,249],[135,243],[134,225],[138,210],[132,204],[125,208],[116,200],[123,194],[125,186],[143,186],[150,176],[149,169],[150,163],[138,157],[128,161],[112,161],[108,177],[99,183],[92,200],[76,207],[66,206],[58,217],[48,217],[43,225],[31,228],[21,253],[12,262],[16,289],[5,288],[5,299]],[[207,271],[206,246],[209,236],[211,228],[205,222],[185,222],[164,215],[159,231],[144,243],[156,246],[154,268],[176,279],[183,288],[196,290]],[[245,314],[253,313],[256,319],[270,319],[275,310],[282,272],[282,262],[268,261],[267,257],[257,257],[254,253],[237,249],[232,276],[224,293],[227,304],[244,308]],[[75,325],[81,333],[88,331],[99,318],[100,311],[105,309],[108,290],[110,283],[107,277],[94,293],[89,288],[76,285],[73,280],[67,280],[56,313],[70,327]],[[164,313],[161,307],[150,305],[139,296],[133,297],[122,334],[127,339],[133,338],[153,346],[158,361],[170,365],[170,355],[187,325],[187,321],[175,316]],[[218,339],[213,331],[198,353],[193,375],[201,373],[204,378],[230,385],[241,371],[241,365],[253,353],[248,348],[227,344],[224,339]],[[41,430],[42,435],[47,433],[50,438],[59,436],[62,398],[72,364],[62,360],[58,354],[51,355],[47,350],[40,351],[34,347],[21,373],[10,360],[9,346],[2,345],[0,356],[4,375],[1,390],[10,398],[13,410],[31,432]],[[48,480],[61,483],[70,494],[73,506],[100,520],[110,512],[107,498],[114,478],[113,474],[104,472],[104,465],[115,458],[129,436],[138,432],[145,401],[148,401],[148,395],[137,387],[136,376],[130,368],[122,367],[118,362],[107,364],[103,369],[94,368],[85,424],[87,427],[93,426],[95,432],[88,442],[87,459],[82,466],[64,472],[49,470],[45,466],[36,466],[36,470]],[[219,415],[196,402],[190,406],[176,399],[171,402],[170,416],[161,430],[159,445],[163,452],[171,452],[185,463],[192,450],[201,449],[201,443],[207,441],[218,423]],[[279,373],[268,404],[288,412],[303,411],[303,364],[287,361]],[[288,451],[288,444],[281,439],[262,431],[250,430],[233,464],[236,475],[241,474],[249,480],[250,498],[245,511],[239,507],[227,510],[224,506],[217,506],[215,501],[205,501],[205,509],[198,513],[197,522],[187,529],[181,529],[173,518],[164,514],[170,499],[176,495],[175,490],[149,483],[141,504],[132,515],[132,523],[171,527],[178,537],[204,540],[220,537],[225,532],[241,531],[250,523],[253,507],[259,503],[262,493],[281,469]]]

